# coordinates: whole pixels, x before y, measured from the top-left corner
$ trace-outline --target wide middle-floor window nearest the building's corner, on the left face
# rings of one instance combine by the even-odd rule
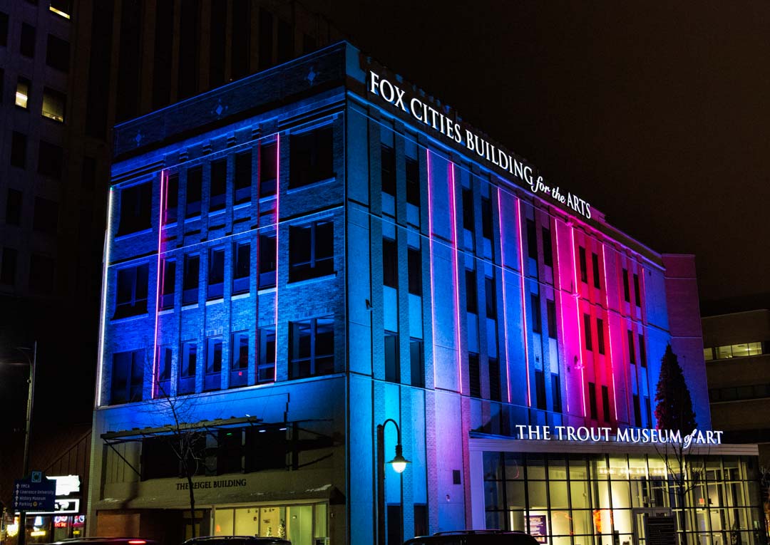
[[[289,228],[289,281],[334,272],[334,224],[318,221]]]

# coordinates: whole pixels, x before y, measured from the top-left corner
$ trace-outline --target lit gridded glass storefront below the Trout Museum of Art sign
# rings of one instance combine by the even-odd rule
[[[485,452],[487,528],[552,545],[646,545],[645,517],[663,510],[684,527],[681,543],[765,543],[755,464],[742,456],[678,463],[657,454]]]

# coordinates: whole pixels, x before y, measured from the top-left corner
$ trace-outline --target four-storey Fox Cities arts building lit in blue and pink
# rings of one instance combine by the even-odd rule
[[[756,448],[710,430],[691,256],[353,46],[117,126],[109,211],[95,532],[189,535],[192,468],[196,533],[630,543],[662,511],[755,543]],[[695,430],[657,429],[668,344]],[[378,502],[389,419],[410,464]]]

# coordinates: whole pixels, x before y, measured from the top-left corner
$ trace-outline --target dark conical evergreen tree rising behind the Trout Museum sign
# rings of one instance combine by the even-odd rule
[[[661,374],[658,378],[658,390],[655,393],[655,418],[659,430],[681,430],[691,433],[698,427],[695,411],[692,410],[690,390],[685,382],[685,373],[671,345],[661,359]]]

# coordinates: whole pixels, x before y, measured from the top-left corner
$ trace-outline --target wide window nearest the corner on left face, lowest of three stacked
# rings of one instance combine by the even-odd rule
[[[290,322],[289,360],[292,379],[333,373],[333,316]]]

